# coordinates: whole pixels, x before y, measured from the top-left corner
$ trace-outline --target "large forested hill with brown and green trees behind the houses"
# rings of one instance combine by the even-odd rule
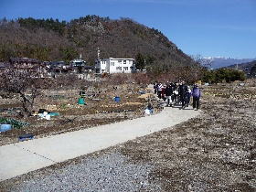
[[[11,57],[44,60],[82,58],[93,65],[97,48],[104,58],[144,59],[171,68],[190,62],[182,50],[155,28],[129,18],[85,16],[69,22],[58,19],[18,18],[0,20],[0,61]],[[173,63],[173,64],[171,64]]]

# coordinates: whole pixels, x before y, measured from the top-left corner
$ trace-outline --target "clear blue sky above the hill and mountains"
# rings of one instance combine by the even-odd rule
[[[256,0],[0,0],[0,19],[130,18],[189,56],[256,58]]]

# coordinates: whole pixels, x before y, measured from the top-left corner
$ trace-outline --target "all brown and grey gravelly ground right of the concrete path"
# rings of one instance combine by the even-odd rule
[[[256,191],[255,87],[203,89],[197,118],[0,183],[1,191]]]

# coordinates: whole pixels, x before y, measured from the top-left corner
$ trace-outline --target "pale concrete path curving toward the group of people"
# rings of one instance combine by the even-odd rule
[[[134,120],[0,146],[0,181],[155,133],[198,114],[191,107],[165,107]]]

